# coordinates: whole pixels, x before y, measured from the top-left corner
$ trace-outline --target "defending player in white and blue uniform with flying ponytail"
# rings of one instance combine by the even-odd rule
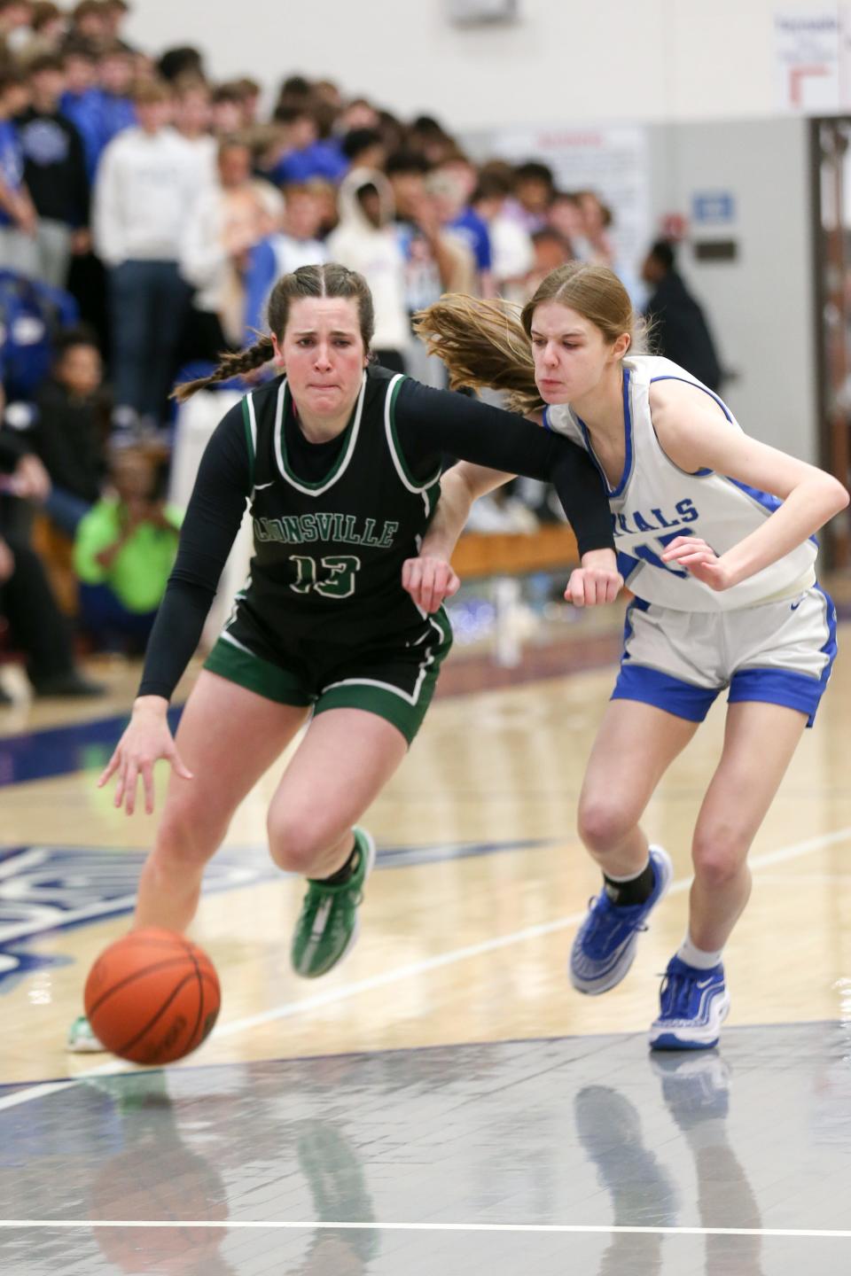
[[[453,383],[509,390],[518,411],[582,444],[609,491],[619,568],[635,600],[620,672],[579,800],[603,887],[570,979],[596,995],[629,970],[672,868],[639,826],[661,776],[727,690],[725,743],[694,828],[689,925],[667,966],[655,1049],[717,1045],[730,1008],[722,951],[750,894],[746,856],[836,655],[836,612],[815,582],[813,533],[847,505],[815,467],[748,438],[726,404],[665,359],[633,355],[629,297],[605,267],[554,271],[522,315],[444,297],[421,319]],[[546,404],[546,406],[545,406]],[[443,477],[422,553],[448,560],[471,500],[505,475]],[[447,567],[404,567],[436,606]]]

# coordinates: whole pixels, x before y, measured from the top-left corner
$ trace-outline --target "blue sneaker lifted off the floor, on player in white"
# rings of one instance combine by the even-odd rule
[[[647,930],[648,916],[674,879],[671,857],[661,846],[651,846],[651,864],[656,882],[644,903],[618,907],[605,887],[591,901],[570,949],[570,983],[578,991],[589,997],[607,993],[633,965],[638,937]]]

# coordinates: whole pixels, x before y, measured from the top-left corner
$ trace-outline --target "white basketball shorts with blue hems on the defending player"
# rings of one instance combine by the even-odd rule
[[[702,722],[720,692],[815,711],[836,658],[836,607],[814,584],[794,598],[736,611],[675,611],[635,598],[612,699]]]

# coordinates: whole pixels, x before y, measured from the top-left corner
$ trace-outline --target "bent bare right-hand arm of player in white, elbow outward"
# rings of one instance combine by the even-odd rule
[[[662,555],[714,590],[727,590],[791,553],[848,504],[831,475],[743,434],[718,404],[686,382],[651,387],[656,435],[681,470],[700,468],[771,493],[783,504],[760,527],[720,558],[697,537],[680,536]]]

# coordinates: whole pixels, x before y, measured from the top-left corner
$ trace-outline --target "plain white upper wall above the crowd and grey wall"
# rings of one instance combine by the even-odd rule
[[[133,0],[128,33],[195,43],[217,78],[300,70],[453,129],[716,120],[776,114],[778,8],[834,0],[521,0],[519,22],[473,28],[444,0]]]

